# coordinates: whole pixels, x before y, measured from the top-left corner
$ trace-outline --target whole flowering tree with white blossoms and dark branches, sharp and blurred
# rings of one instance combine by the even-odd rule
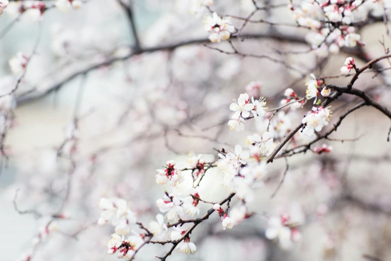
[[[344,151],[344,141],[360,143],[355,124],[343,138],[336,133],[359,109],[376,109],[390,125],[390,6],[387,0],[0,0],[0,40],[18,23],[38,27],[32,44],[4,52],[9,75],[0,81],[2,168],[17,162],[8,191],[18,213],[42,224],[20,260],[106,260],[106,251],[127,260],[278,260],[290,252],[303,260],[315,245],[321,245],[317,259],[346,258],[347,234],[363,223],[375,229],[366,213],[382,222],[390,213],[389,193],[383,201],[376,193],[357,197],[347,178],[352,160],[387,162],[389,155],[365,143],[371,154],[350,152],[343,169],[346,155],[333,157],[331,145]],[[142,21],[156,13],[152,25]],[[80,25],[84,19],[88,28]],[[361,32],[377,23],[374,54]],[[18,128],[17,105],[58,95],[72,83],[76,98],[62,141],[13,153],[7,134]],[[374,127],[388,147],[391,127]],[[322,228],[316,235],[322,242],[309,243],[312,235],[303,231],[311,227]],[[230,229],[233,247],[251,249],[236,257],[208,251],[205,242]],[[370,243],[354,252],[370,260],[390,256]]]

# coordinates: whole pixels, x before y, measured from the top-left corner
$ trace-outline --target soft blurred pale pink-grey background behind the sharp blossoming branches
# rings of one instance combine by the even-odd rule
[[[124,2],[133,6],[142,48],[158,50],[129,56],[135,39],[129,16],[116,0],[88,0],[67,12],[52,7],[40,21],[24,13],[13,18],[4,12],[0,17],[1,93],[12,90],[18,80],[8,60],[17,52],[33,54],[13,93],[14,107],[7,112],[12,120],[1,141],[1,260],[17,260],[31,251],[36,235],[58,212],[66,218],[51,223],[53,232],[39,239],[33,260],[115,260],[106,248],[112,227],[94,224],[101,197],[131,201],[140,221],[149,222],[159,212],[156,199],[163,195],[155,182],[156,169],[166,160],[185,166],[192,151],[212,161],[215,149],[247,147],[248,135],[265,130],[265,122],[255,121],[246,122],[242,132],[230,130],[233,98],[252,91],[250,96],[265,96],[269,108],[276,107],[288,87],[304,96],[310,73],[340,75],[346,57],[354,57],[361,66],[390,46],[384,10],[367,9],[371,19],[357,28],[366,43],[363,47],[325,53],[311,50],[308,29],[248,23],[241,34],[258,36],[232,39],[233,44],[240,52],[267,58],[243,57],[224,53],[232,51],[227,41],[208,41],[202,18],[209,11],[190,13],[190,0]],[[295,24],[288,1],[256,2],[280,7],[259,10],[253,19]],[[247,17],[254,3],[214,0],[211,9]],[[243,24],[231,20],[237,28]],[[187,41],[190,44],[182,44]],[[387,64],[380,62],[384,68]],[[338,77],[327,83],[345,85],[349,80]],[[258,87],[246,88],[252,81]],[[355,87],[390,106],[389,83],[389,70],[384,70],[362,74]],[[349,96],[339,98],[332,104],[331,121],[357,102]],[[273,127],[295,127],[311,109],[310,103],[293,116],[279,114]],[[2,110],[4,104],[0,100]],[[309,151],[288,158],[287,176],[274,198],[270,196],[286,166],[284,159],[268,165],[265,186],[257,190],[249,208],[269,215],[288,211],[302,233],[293,249],[282,250],[265,238],[267,220],[262,215],[224,231],[216,215],[192,233],[195,253],[175,251],[168,259],[361,260],[363,254],[390,259],[389,128],[389,120],[374,108],[350,114],[332,135],[338,140],[326,141],[333,146],[331,153]],[[213,189],[201,185],[201,198],[224,198],[228,192],[221,181],[219,170],[209,170],[205,183]],[[14,203],[27,213],[18,213]],[[207,209],[201,207],[201,213]],[[148,245],[137,259],[151,260],[167,247]]]

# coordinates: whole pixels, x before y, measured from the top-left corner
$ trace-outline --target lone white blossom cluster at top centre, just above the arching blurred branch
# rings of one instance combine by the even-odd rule
[[[235,27],[231,24],[230,17],[220,17],[216,12],[207,15],[202,20],[204,29],[211,32],[209,40],[212,42],[220,42],[230,38],[231,33],[235,31]]]

